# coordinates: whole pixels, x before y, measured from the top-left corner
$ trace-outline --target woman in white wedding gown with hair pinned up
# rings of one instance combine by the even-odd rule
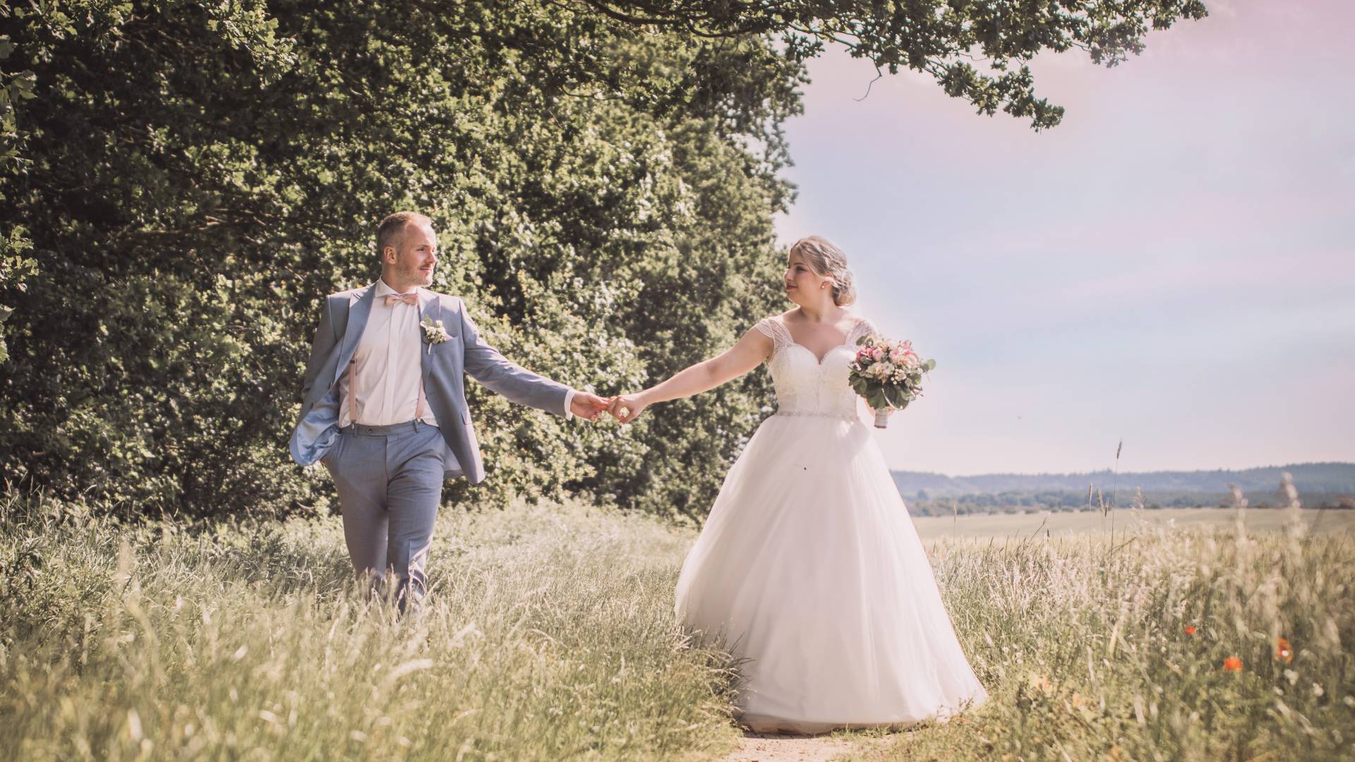
[[[744,662],[737,710],[759,732],[902,727],[982,702],[921,541],[847,384],[874,327],[854,301],[843,252],[810,236],[790,248],[795,308],[724,354],[611,412],[688,397],[764,359],[779,407],[725,476],[683,563],[676,613],[722,635]]]

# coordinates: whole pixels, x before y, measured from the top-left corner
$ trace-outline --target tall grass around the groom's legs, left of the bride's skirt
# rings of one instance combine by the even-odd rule
[[[446,511],[425,616],[350,587],[337,519],[118,526],[0,503],[0,759],[652,759],[736,743],[672,621],[690,534]]]

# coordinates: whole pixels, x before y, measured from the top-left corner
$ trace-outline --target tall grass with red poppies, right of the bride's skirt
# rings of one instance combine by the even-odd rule
[[[1355,758],[1355,541],[1308,536],[1297,504],[1283,533],[1140,525],[931,555],[992,700],[854,759]]]

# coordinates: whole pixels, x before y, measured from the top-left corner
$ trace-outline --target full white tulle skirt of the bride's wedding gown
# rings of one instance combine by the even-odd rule
[[[676,613],[743,662],[755,731],[906,727],[986,698],[858,420],[763,422],[683,563]]]

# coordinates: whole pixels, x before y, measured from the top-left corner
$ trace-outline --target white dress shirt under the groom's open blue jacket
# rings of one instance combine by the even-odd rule
[[[348,373],[339,380],[339,427],[389,426],[419,418],[438,426],[423,389],[423,331],[419,328],[419,289],[415,304],[386,305],[394,289],[378,279],[367,327],[358,340]],[[573,418],[569,407],[575,390],[565,395],[564,415]]]

